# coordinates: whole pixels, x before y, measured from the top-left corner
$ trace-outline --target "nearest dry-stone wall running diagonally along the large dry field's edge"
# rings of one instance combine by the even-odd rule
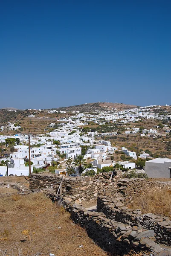
[[[84,227],[88,235],[111,255],[123,255],[132,249],[152,250],[155,254],[163,250],[162,246],[155,242],[154,230],[144,229],[142,225],[135,230],[131,225],[108,219],[103,212],[87,211],[62,196],[50,194],[49,197],[69,211],[72,220]]]

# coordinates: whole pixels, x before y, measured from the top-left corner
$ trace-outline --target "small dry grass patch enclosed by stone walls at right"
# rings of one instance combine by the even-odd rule
[[[158,189],[136,197],[128,205],[131,209],[141,209],[142,213],[153,213],[171,218],[171,190]]]

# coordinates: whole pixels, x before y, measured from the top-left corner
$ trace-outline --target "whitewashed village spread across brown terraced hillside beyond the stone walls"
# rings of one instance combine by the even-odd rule
[[[1,120],[0,175],[49,171],[93,176],[120,169],[148,177],[171,177],[169,106],[126,108],[125,105],[120,111],[110,103],[102,105],[103,111],[99,103],[93,106],[91,110],[89,105],[91,112],[2,109],[1,113],[14,115],[8,121]],[[20,119],[23,113],[25,117]],[[46,126],[43,133],[37,134],[35,127],[40,119]],[[25,120],[29,122],[23,129]],[[37,125],[34,128],[33,123]]]

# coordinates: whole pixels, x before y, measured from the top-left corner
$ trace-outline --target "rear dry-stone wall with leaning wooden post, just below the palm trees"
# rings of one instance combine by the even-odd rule
[[[29,175],[30,190],[53,188],[57,192],[59,182],[62,182],[62,195],[70,201],[81,203],[82,201],[93,201],[101,192],[110,192],[113,195],[116,192],[116,180],[110,179],[111,173],[100,173],[95,177],[70,177],[52,174],[49,172],[33,173]],[[57,183],[57,184],[55,184]]]

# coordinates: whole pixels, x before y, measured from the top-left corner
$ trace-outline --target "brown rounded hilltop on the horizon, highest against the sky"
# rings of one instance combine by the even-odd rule
[[[81,105],[69,106],[69,107],[61,107],[57,108],[57,110],[61,111],[80,111],[80,112],[93,112],[93,111],[107,111],[116,109],[116,111],[122,111],[125,109],[136,108],[135,105],[126,105],[123,103],[110,103],[110,102],[95,102],[95,103],[86,103]]]

